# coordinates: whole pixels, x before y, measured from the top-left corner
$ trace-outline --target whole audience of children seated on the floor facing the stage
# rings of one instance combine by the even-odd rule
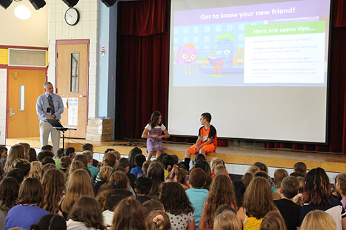
[[[303,162],[294,165],[292,175],[298,177],[288,176],[284,169],[277,169],[275,184],[268,176],[268,166],[256,162],[242,181],[232,183],[219,157],[212,160],[210,170],[204,155],[197,155],[188,175],[185,166],[177,164],[176,157],[163,153],[160,155],[162,162],[145,162],[140,148],[131,151],[131,158],[120,158],[115,150],[109,150],[104,155],[100,173],[91,173],[91,149],[93,147],[84,149],[85,152],[78,154],[71,164],[72,159],[68,156],[59,159],[58,155],[53,160],[49,146],[42,148],[37,158],[33,157],[35,149],[35,154],[30,153],[30,146],[25,143],[12,146],[5,162],[6,177],[0,182],[0,229],[243,227],[245,230],[289,230],[300,227],[304,230],[346,227],[345,173],[336,177],[334,185],[340,193],[340,202],[331,197],[331,184],[323,169],[311,169],[305,178],[300,177],[307,171]],[[66,152],[75,154],[71,148],[65,149]],[[53,160],[53,164],[43,167],[37,160],[42,163]],[[136,163],[132,171],[145,169],[137,173],[136,182],[136,176],[125,173],[129,171],[131,161]],[[56,168],[57,163],[62,169]],[[171,171],[167,182],[164,182],[164,167]],[[91,175],[95,178],[97,174],[98,181],[93,184]],[[211,184],[210,189],[208,184]],[[131,192],[132,187],[137,195]],[[281,199],[273,201],[271,190]],[[129,198],[132,196],[136,198]],[[48,222],[51,225],[47,227],[44,224]]]

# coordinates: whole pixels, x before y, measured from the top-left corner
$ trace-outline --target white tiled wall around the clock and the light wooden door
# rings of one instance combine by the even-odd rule
[[[61,0],[49,2],[49,67],[48,81],[55,80],[55,44],[60,39],[90,39],[89,45],[89,114],[95,117],[97,98],[97,49],[98,49],[98,12],[99,0],[80,0],[75,6],[80,12],[80,21],[69,26],[64,15],[68,7]]]

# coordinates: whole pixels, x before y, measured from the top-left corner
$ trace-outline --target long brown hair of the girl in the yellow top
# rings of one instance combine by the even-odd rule
[[[275,210],[271,186],[264,178],[254,178],[244,194],[243,207],[246,215],[262,219],[269,211]]]

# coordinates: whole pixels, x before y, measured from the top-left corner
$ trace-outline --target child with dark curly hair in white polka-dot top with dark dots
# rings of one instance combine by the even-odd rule
[[[170,217],[172,230],[196,228],[193,215],[194,208],[179,183],[163,183],[159,200],[163,203],[165,212]]]

